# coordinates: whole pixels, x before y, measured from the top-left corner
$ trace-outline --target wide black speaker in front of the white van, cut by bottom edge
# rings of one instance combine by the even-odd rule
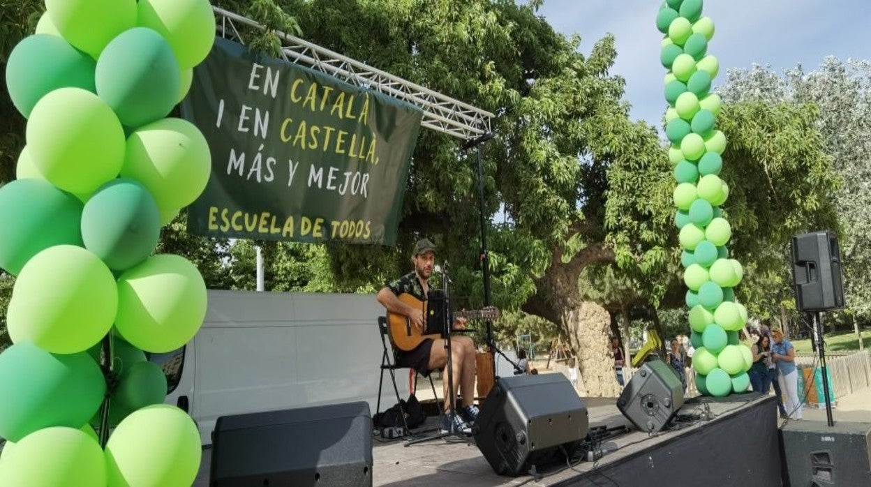
[[[372,485],[367,402],[221,416],[212,487]]]

